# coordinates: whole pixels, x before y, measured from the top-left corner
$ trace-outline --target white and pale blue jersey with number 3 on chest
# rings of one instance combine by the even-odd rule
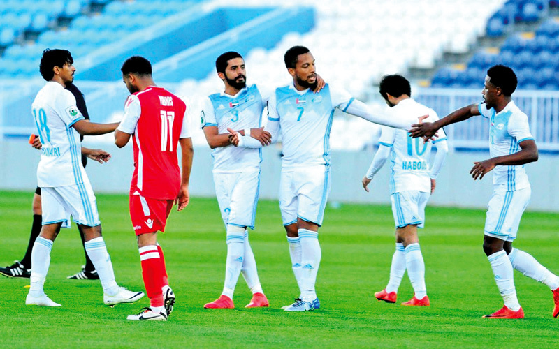
[[[241,89],[235,96],[212,94],[205,98],[201,112],[201,127],[217,126],[218,133],[228,133],[227,128],[235,131],[261,126],[262,111],[268,96],[261,94],[256,84]],[[247,168],[259,168],[262,150],[244,147],[218,147],[214,149],[215,173],[242,172]]]

